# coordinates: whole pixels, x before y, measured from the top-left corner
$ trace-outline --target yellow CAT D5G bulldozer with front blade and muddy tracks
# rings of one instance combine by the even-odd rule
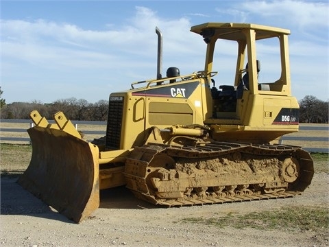
[[[105,138],[87,141],[64,113],[49,124],[34,110],[35,126],[27,130],[32,158],[18,183],[76,223],[99,207],[101,189],[124,185],[163,207],[302,193],[313,178],[313,160],[301,147],[280,142],[299,125],[290,31],[204,23],[191,32],[206,43],[204,68],[180,75],[169,67],[162,76],[156,27],[156,78],[110,93]],[[261,76],[265,46],[276,54],[267,68],[275,78]]]

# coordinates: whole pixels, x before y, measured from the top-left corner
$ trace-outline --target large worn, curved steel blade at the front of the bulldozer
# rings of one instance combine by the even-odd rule
[[[36,126],[27,132],[32,159],[19,185],[74,222],[81,222],[99,207],[97,146],[54,126]]]

